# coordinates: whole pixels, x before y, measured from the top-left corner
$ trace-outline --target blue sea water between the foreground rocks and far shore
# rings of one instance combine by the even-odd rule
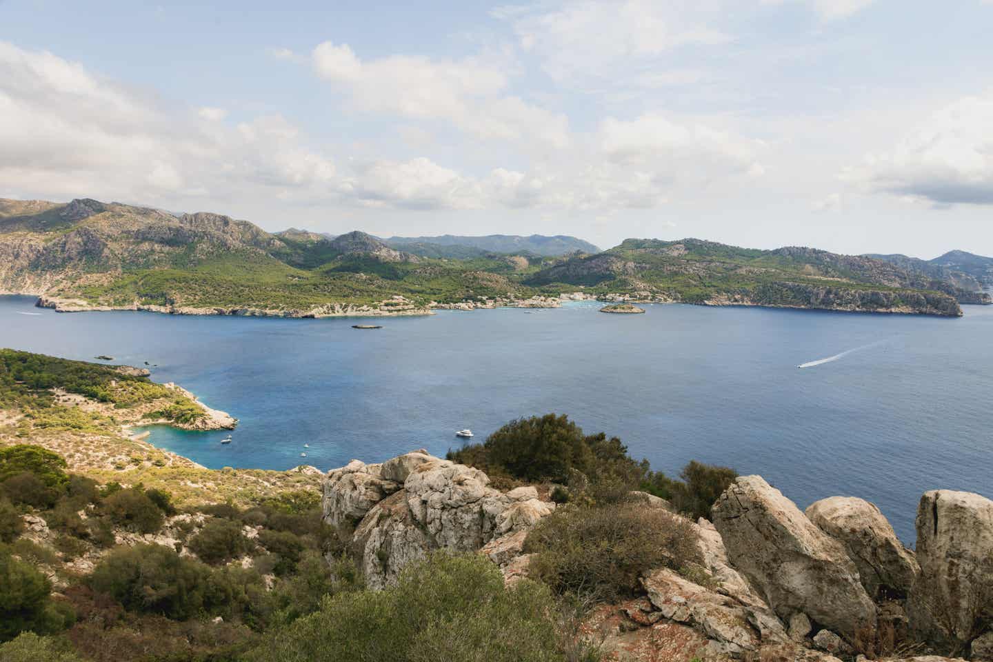
[[[993,497],[993,307],[948,320],[693,306],[616,316],[577,304],[355,331],[349,319],[64,315],[33,303],[0,298],[0,346],[147,360],[153,379],[238,417],[228,446],[227,433],[153,429],[152,443],[212,467],[444,454],[456,430],[482,441],[512,418],[564,412],[667,472],[729,464],[800,507],[867,498],[908,543],[923,491]]]

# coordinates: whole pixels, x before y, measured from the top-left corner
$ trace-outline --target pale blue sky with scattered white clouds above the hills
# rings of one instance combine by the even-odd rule
[[[993,255],[993,0],[0,0],[0,198]]]

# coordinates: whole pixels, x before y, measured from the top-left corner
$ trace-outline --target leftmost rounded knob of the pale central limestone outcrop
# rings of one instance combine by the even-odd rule
[[[324,481],[324,520],[332,526],[357,521],[372,506],[400,488],[382,477],[381,464],[358,460],[328,472]]]

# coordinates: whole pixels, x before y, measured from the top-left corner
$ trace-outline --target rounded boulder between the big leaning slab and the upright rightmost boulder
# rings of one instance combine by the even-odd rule
[[[870,597],[881,591],[893,596],[910,593],[921,567],[875,504],[854,496],[831,496],[810,504],[806,516],[844,543]]]

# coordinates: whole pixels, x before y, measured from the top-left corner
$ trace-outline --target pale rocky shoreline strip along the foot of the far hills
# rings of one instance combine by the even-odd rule
[[[49,308],[57,313],[100,313],[112,311],[138,311],[159,313],[163,315],[184,316],[217,316],[217,317],[256,317],[279,319],[321,320],[334,318],[382,318],[382,317],[426,317],[435,315],[435,311],[475,311],[494,310],[497,308],[560,308],[563,303],[571,301],[597,301],[604,304],[688,304],[691,306],[708,306],[715,308],[749,307],[770,309],[791,309],[799,311],[832,311],[838,313],[864,313],[880,315],[911,315],[924,317],[960,318],[961,308],[954,312],[927,307],[925,310],[911,306],[890,307],[860,307],[850,303],[839,303],[834,306],[800,306],[791,304],[756,303],[749,297],[740,294],[718,295],[701,302],[685,302],[664,294],[637,292],[634,294],[609,293],[605,295],[589,295],[583,292],[562,293],[557,297],[536,295],[527,299],[484,298],[479,301],[462,301],[453,303],[429,302],[418,306],[407,299],[394,296],[379,302],[377,305],[355,304],[326,304],[309,310],[279,310],[257,308],[224,308],[224,307],[192,307],[192,306],[158,306],[154,304],[131,303],[122,306],[92,305],[78,299],[62,299],[35,293],[4,293],[14,296],[37,296],[35,306]]]

